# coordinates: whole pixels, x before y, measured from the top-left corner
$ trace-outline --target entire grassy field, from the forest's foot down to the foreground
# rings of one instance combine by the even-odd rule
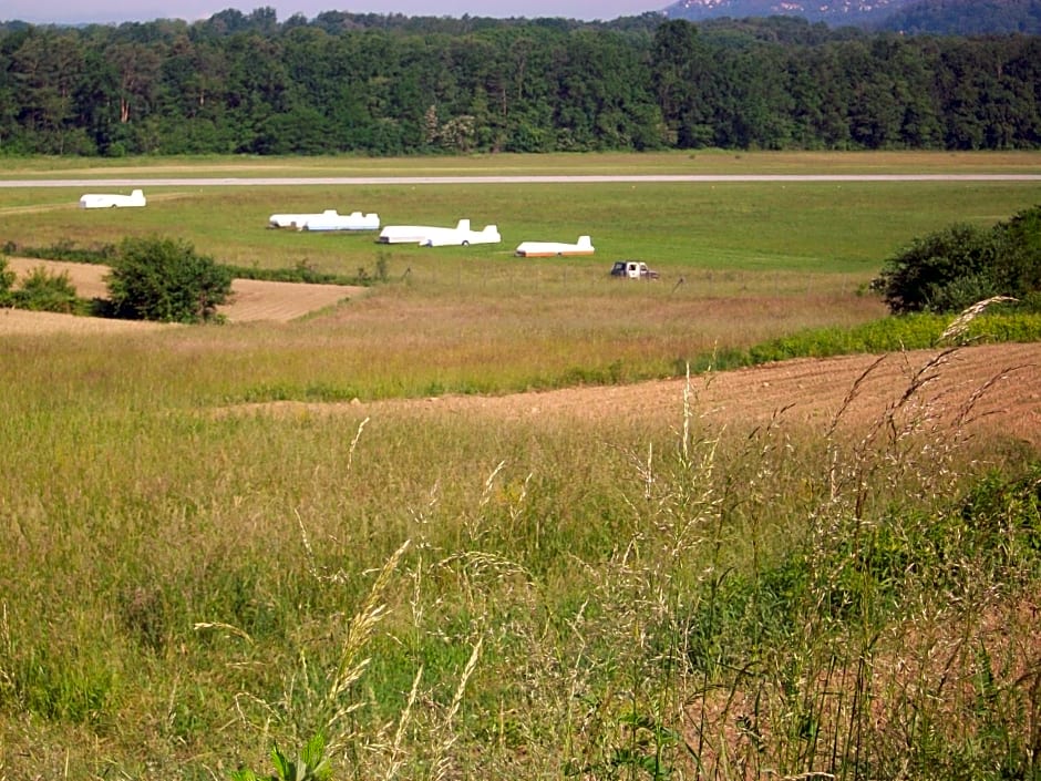
[[[3,177],[823,166],[1037,173],[1041,156],[12,161]],[[0,779],[270,773],[272,744],[296,757],[319,733],[336,779],[1038,778],[1038,469],[1000,431],[728,430],[697,400],[639,424],[243,402],[681,376],[883,317],[865,288],[886,257],[1006,219],[1041,183],[165,186],[101,214],[82,191],[0,188],[0,243],[162,234],[241,266],[383,264],[388,281],[285,325],[0,336]],[[504,243],[266,228],[333,207],[494,222]],[[580,233],[592,258],[512,255]],[[662,279],[611,280],[623,257]]]

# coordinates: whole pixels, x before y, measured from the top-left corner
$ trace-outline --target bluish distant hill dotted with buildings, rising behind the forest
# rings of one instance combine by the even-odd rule
[[[1041,0],[679,0],[663,13],[690,21],[802,17],[829,27],[909,34],[1041,33]]]

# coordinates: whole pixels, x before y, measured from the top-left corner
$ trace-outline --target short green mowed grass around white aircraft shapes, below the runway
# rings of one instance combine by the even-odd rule
[[[522,264],[524,240],[592,237],[600,267],[637,257],[666,271],[688,268],[877,273],[916,236],[961,220],[991,225],[1041,198],[1041,183],[732,183],[412,185],[155,188],[140,209],[79,209],[78,189],[0,191],[3,240],[23,246],[117,244],[124,236],[172,234],[236,266],[312,264],[351,274],[398,256],[392,271]],[[38,212],[27,212],[30,202]],[[61,208],[61,207],[64,208]],[[372,233],[271,230],[275,212],[375,212],[383,225],[495,224],[503,242],[473,247],[384,247]],[[12,215],[14,216],[14,215]],[[381,255],[382,254],[382,255]],[[474,263],[476,261],[476,263]],[[589,259],[568,260],[583,267]],[[404,268],[402,267],[404,266]],[[606,270],[606,269],[605,269]]]

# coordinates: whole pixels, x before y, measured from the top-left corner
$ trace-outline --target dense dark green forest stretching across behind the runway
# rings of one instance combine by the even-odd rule
[[[1041,38],[274,9],[0,27],[0,154],[1041,146]]]

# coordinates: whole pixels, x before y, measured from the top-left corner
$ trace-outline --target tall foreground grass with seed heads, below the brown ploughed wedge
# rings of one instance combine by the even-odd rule
[[[823,439],[693,394],[559,430],[85,388],[0,401],[14,778],[227,778],[319,732],[336,778],[1037,770],[1037,467],[914,376]]]

